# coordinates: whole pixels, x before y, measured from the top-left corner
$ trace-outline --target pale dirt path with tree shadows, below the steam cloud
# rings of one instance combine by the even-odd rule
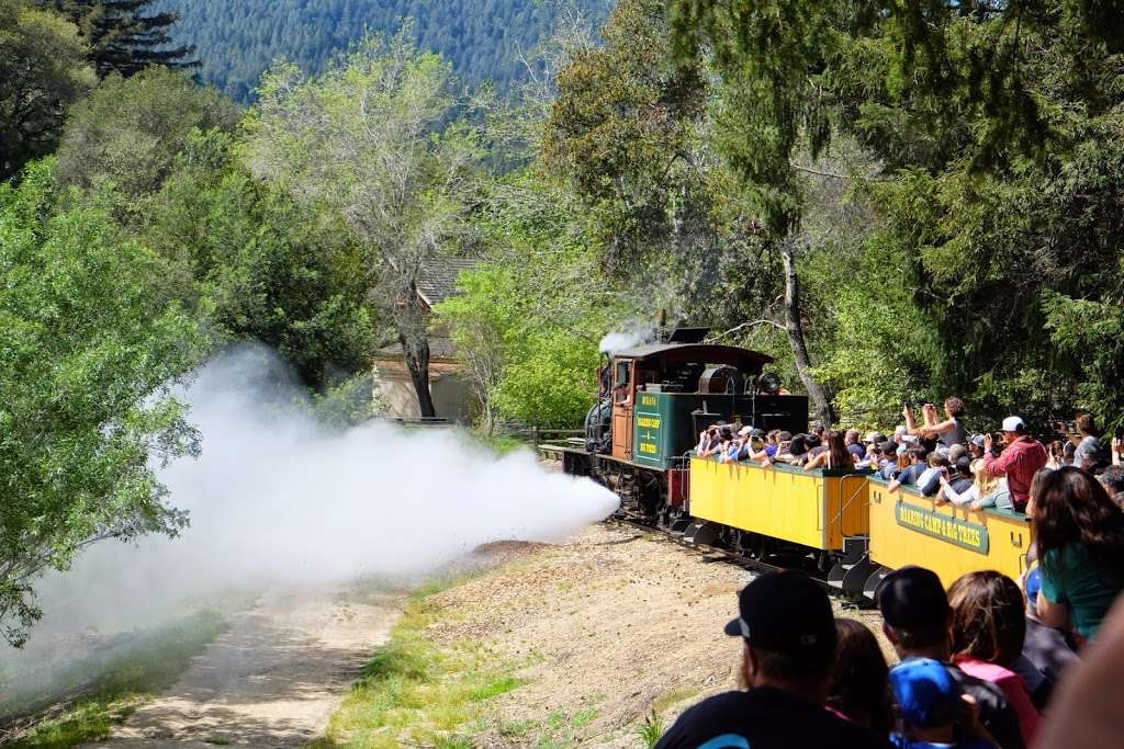
[[[301,746],[324,732],[399,612],[390,596],[268,593],[166,694],[89,746]]]

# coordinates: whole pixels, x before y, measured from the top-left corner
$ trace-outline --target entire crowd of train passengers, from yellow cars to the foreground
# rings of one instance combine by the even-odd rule
[[[935,502],[1026,512],[1028,572],[1019,581],[971,572],[948,590],[923,567],[890,573],[876,599],[894,667],[874,633],[835,619],[824,590],[803,573],[758,577],[726,627],[743,638],[742,688],[688,710],[661,748],[1124,746],[1124,711],[1098,692],[1116,693],[1124,666],[1098,659],[1124,657],[1120,436],[1107,444],[1088,414],[1055,424],[1060,439],[1049,446],[1018,417],[996,435],[970,435],[954,398],[944,419],[932,405],[921,423],[908,408],[903,415],[891,438],[716,424],[697,453],[868,468]]]

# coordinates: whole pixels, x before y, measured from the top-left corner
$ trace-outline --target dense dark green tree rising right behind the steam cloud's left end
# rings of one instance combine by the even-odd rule
[[[328,211],[253,180],[233,150],[225,134],[193,131],[145,203],[139,231],[167,262],[165,293],[221,338],[271,346],[315,389],[364,368],[375,334],[361,248]]]

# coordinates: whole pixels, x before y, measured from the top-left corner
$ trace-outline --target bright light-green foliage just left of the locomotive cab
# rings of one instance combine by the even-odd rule
[[[475,217],[489,262],[435,308],[480,398],[486,427],[581,423],[596,394],[597,341],[640,309],[599,271],[596,226],[534,173],[492,185]]]

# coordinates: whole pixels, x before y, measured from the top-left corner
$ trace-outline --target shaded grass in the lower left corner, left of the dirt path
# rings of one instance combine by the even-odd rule
[[[105,738],[138,704],[174,684],[191,658],[225,629],[218,612],[201,611],[133,633],[119,647],[73,664],[49,684],[6,686],[0,714],[26,715],[31,727],[7,746],[62,749]]]

